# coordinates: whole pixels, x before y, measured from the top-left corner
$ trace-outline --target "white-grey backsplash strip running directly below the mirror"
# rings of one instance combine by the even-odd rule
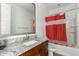
[[[7,40],[7,44],[11,44],[14,42],[22,42],[24,40],[29,40],[35,38],[35,34],[24,34],[24,35],[14,35],[0,38],[0,40]]]

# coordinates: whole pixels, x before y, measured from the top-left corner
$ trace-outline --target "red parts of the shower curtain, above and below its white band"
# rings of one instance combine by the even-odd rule
[[[65,13],[62,15],[57,14],[55,16],[49,16],[46,17],[46,22],[56,21],[65,19]],[[67,42],[66,37],[66,24],[51,24],[46,25],[46,36],[49,41],[55,41],[55,42]]]

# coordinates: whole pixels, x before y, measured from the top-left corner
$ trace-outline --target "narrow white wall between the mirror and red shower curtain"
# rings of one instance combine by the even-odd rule
[[[36,34],[38,37],[45,38],[45,17],[48,11],[44,4],[36,3]]]

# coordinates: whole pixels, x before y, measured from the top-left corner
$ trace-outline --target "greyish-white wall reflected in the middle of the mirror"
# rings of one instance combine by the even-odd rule
[[[32,32],[32,20],[33,14],[31,14],[27,9],[22,8],[17,5],[12,5],[12,33],[28,33]]]

